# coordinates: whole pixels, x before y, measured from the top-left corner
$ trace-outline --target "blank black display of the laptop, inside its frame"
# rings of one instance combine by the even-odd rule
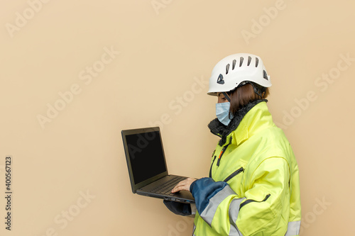
[[[135,184],[166,172],[158,131],[126,135],[126,142]]]

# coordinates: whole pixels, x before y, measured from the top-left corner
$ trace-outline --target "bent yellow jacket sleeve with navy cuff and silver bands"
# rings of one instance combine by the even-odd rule
[[[197,212],[219,235],[285,235],[290,169],[281,157],[264,160],[251,174],[245,197],[223,181],[203,178],[190,186]],[[288,214],[287,214],[288,215]],[[277,233],[275,233],[277,232]],[[289,235],[297,235],[289,234]]]

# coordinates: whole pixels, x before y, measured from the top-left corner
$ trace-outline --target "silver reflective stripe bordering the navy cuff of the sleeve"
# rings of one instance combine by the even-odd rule
[[[202,219],[206,221],[206,223],[211,226],[212,225],[212,220],[214,217],[214,213],[216,213],[216,210],[219,206],[220,203],[229,195],[236,194],[229,185],[224,186],[224,188],[219,191],[216,195],[214,195],[211,199],[209,199],[209,203],[207,207],[204,209],[204,211],[201,213]]]

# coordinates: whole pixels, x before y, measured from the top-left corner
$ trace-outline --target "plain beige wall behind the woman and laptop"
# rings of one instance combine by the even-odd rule
[[[121,130],[160,125],[170,173],[207,176],[218,140],[207,129],[209,75],[226,55],[251,52],[271,75],[268,106],[300,167],[301,235],[351,235],[354,7],[1,1],[0,234],[190,235],[192,219],[131,193]]]

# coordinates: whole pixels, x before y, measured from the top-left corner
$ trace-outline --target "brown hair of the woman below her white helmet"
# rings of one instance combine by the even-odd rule
[[[254,84],[254,86],[257,86]],[[250,83],[240,86],[232,91],[227,93],[231,98],[231,108],[229,112],[231,114],[235,114],[239,111],[240,108],[246,106],[246,104],[258,100],[258,99],[266,99],[268,94],[270,94],[268,88],[265,88],[265,91],[259,96],[254,92],[253,85]]]

